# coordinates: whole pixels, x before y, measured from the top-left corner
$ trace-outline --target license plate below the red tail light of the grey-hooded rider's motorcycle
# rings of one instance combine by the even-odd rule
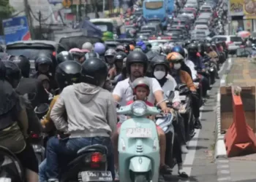
[[[82,181],[113,181],[110,171],[83,171]]]

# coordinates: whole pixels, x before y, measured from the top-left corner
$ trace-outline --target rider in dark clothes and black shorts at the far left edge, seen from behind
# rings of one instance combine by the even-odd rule
[[[7,61],[10,62],[10,61]],[[38,163],[33,148],[26,141],[29,127],[23,99],[13,90],[20,81],[18,66],[0,61],[0,146],[12,151],[26,169],[26,181],[38,181]]]

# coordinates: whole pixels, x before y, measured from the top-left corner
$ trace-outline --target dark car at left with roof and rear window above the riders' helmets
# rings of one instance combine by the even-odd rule
[[[84,41],[85,42],[85,41]],[[83,43],[84,43],[83,42]],[[45,53],[53,60],[53,68],[55,69],[57,64],[56,55],[59,52],[65,51],[64,45],[56,41],[14,41],[7,44],[6,52],[8,55],[24,55],[29,59],[31,65],[31,74],[34,74],[35,66],[34,61],[40,53]]]

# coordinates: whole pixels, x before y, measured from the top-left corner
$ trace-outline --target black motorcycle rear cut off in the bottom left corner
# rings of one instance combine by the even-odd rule
[[[12,151],[2,146],[0,146],[0,181],[25,181],[23,166],[19,159]]]

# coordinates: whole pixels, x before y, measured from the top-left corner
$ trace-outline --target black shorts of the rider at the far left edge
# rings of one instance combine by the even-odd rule
[[[38,162],[36,154],[34,154],[34,149],[32,146],[26,142],[26,148],[19,154],[16,154],[23,168],[29,169],[38,173]]]

